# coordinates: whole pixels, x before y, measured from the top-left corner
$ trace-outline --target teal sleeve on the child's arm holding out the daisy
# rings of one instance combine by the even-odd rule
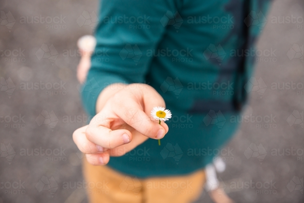
[[[97,44],[81,89],[89,115],[96,114],[98,95],[109,84],[144,82],[153,59],[146,52],[156,48],[164,35],[166,12],[177,11],[176,3],[164,0],[101,0],[100,4]]]

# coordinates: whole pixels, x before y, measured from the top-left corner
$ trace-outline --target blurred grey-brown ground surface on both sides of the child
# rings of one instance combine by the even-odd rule
[[[84,178],[72,133],[88,120],[77,40],[93,33],[97,8],[96,0],[0,2],[0,203],[87,202],[84,187],[73,187]],[[235,202],[304,202],[303,9],[301,0],[273,1],[258,41],[243,112],[254,119],[239,119],[219,157],[220,187]],[[197,202],[212,202],[207,189]]]

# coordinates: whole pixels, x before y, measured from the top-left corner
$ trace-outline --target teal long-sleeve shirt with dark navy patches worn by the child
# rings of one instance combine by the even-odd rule
[[[125,156],[111,157],[108,166],[142,178],[181,175],[227,155],[221,148],[237,129],[230,118],[250,92],[254,54],[246,51],[254,50],[267,23],[267,5],[264,0],[101,1],[97,45],[81,93],[86,111],[94,116],[102,89],[122,82],[149,84],[172,112],[161,146],[148,139]]]

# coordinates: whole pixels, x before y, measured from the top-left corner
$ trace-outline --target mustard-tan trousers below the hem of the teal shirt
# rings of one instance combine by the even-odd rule
[[[83,172],[90,203],[191,203],[206,181],[204,170],[185,176],[138,179],[84,158]]]

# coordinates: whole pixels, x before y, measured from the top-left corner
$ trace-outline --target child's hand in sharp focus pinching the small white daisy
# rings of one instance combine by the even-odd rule
[[[150,111],[156,106],[165,107],[165,102],[151,86],[108,86],[98,97],[100,112],[89,125],[74,131],[73,140],[89,163],[107,164],[110,156],[123,156],[148,138],[164,137],[167,124],[151,120]]]

